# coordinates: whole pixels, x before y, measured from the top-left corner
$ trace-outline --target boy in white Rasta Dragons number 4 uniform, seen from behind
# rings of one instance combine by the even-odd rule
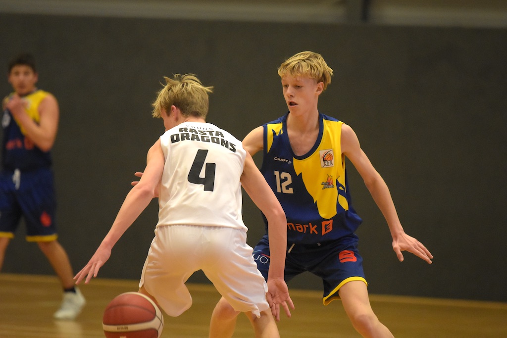
[[[247,313],[257,337],[278,337],[273,315],[280,304],[292,306],[283,280],[285,214],[241,141],[206,123],[212,87],[193,74],[165,80],[153,116],[163,119],[166,132],[150,148],[141,179],[76,283],[97,276],[118,239],[158,195],[159,221],[139,292],[178,316],[192,304],[185,282],[203,270],[236,311]],[[274,240],[267,283],[246,244],[241,186],[269,219]]]

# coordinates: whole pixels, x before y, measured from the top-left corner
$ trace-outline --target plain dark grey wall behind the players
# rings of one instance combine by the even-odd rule
[[[349,165],[354,206],[364,218],[357,233],[370,292],[507,301],[505,29],[15,14],[0,14],[0,22],[0,65],[32,51],[40,87],[59,99],[53,151],[59,234],[76,271],[110,228],[133,173],[163,132],[150,103],[164,75],[193,72],[215,86],[208,121],[242,138],[286,111],[276,67],[313,50],[335,70],[320,111],[356,131],[406,232],[435,256],[432,265],[407,253],[397,261],[387,225]],[[0,92],[9,90],[0,83]],[[255,245],[264,227],[246,197],[243,217]],[[156,220],[154,201],[116,245],[101,277],[139,277]],[[53,273],[37,247],[25,243],[23,227],[3,272]],[[191,281],[206,279],[196,273]],[[289,286],[321,289],[321,282],[304,274]]]

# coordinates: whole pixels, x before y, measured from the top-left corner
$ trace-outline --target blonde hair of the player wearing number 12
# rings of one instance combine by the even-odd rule
[[[331,69],[324,58],[315,52],[300,52],[286,59],[278,67],[278,75],[283,78],[285,76],[306,76],[315,79],[317,82],[324,84],[325,90],[331,84],[333,69]]]

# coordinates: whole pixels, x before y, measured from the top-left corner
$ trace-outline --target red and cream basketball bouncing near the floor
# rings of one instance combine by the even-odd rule
[[[102,328],[107,338],[159,338],[164,316],[148,296],[125,292],[105,308]]]

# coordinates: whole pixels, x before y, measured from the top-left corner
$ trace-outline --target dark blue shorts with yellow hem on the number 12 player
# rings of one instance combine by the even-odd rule
[[[350,281],[366,283],[363,257],[357,250],[357,237],[345,237],[320,244],[287,244],[285,281],[308,271],[322,279],[323,303],[340,298],[338,290]],[[253,259],[264,278],[268,278],[269,242],[265,235],[253,249]]]

